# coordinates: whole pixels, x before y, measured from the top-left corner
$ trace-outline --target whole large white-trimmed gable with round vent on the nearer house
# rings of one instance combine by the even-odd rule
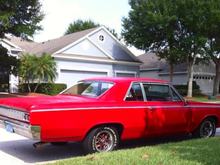
[[[97,57],[112,60],[112,62],[128,62],[141,64],[140,60],[133,55],[127,47],[120,43],[105,27],[93,29],[84,37],[73,41],[62,49],[53,53],[54,57],[76,58],[71,55],[77,55],[85,58]],[[65,56],[64,55],[68,55]]]

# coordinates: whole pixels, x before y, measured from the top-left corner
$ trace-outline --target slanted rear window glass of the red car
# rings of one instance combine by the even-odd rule
[[[112,82],[82,81],[65,90],[62,94],[98,97],[112,86]]]

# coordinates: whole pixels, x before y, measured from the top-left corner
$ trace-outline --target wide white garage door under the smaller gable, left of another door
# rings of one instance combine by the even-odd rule
[[[70,87],[79,80],[91,77],[105,77],[107,75],[107,72],[61,70],[59,75],[59,82],[65,83],[67,84],[67,87]]]

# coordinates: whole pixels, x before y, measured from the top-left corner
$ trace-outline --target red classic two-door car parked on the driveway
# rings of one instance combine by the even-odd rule
[[[40,142],[82,142],[89,153],[121,140],[192,134],[220,127],[220,105],[185,101],[167,81],[92,78],[57,96],[0,99],[0,126]]]

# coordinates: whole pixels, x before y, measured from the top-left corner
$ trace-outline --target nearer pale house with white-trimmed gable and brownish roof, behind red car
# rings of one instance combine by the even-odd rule
[[[51,54],[57,63],[56,83],[71,86],[89,77],[139,76],[141,61],[134,56],[104,26],[92,28],[41,43],[10,36],[5,47],[16,47],[22,53],[38,56]]]

